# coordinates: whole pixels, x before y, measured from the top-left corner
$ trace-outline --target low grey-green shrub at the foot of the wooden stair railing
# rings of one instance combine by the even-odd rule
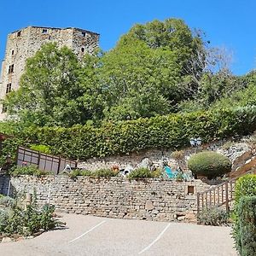
[[[205,208],[198,214],[201,224],[220,226],[229,223],[229,214],[220,207]]]

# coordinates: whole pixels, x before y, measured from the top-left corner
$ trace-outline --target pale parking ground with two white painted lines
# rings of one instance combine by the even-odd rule
[[[229,227],[62,214],[67,228],[0,244],[1,256],[236,255]]]

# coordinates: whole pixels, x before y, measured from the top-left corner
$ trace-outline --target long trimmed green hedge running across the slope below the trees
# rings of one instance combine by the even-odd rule
[[[102,123],[100,127],[77,125],[72,128],[15,129],[15,138],[9,138],[3,143],[3,154],[13,152],[17,144],[41,144],[49,146],[52,154],[81,160],[95,156],[129,154],[148,148],[182,148],[189,145],[190,137],[201,137],[206,143],[246,135],[254,130],[254,106],[177,113],[150,119]]]

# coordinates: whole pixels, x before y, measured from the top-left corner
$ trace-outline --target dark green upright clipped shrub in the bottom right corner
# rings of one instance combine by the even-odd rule
[[[234,237],[241,256],[256,254],[256,195],[241,197],[236,206]]]

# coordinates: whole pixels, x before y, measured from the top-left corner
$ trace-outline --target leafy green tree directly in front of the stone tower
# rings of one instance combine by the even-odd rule
[[[92,60],[88,57],[86,61]],[[94,95],[90,90],[93,75],[89,70],[91,66],[83,67],[71,49],[44,44],[26,61],[20,89],[9,93],[4,104],[13,118],[23,122],[61,126],[84,124],[94,114],[90,99]],[[83,83],[82,73],[89,77]]]

